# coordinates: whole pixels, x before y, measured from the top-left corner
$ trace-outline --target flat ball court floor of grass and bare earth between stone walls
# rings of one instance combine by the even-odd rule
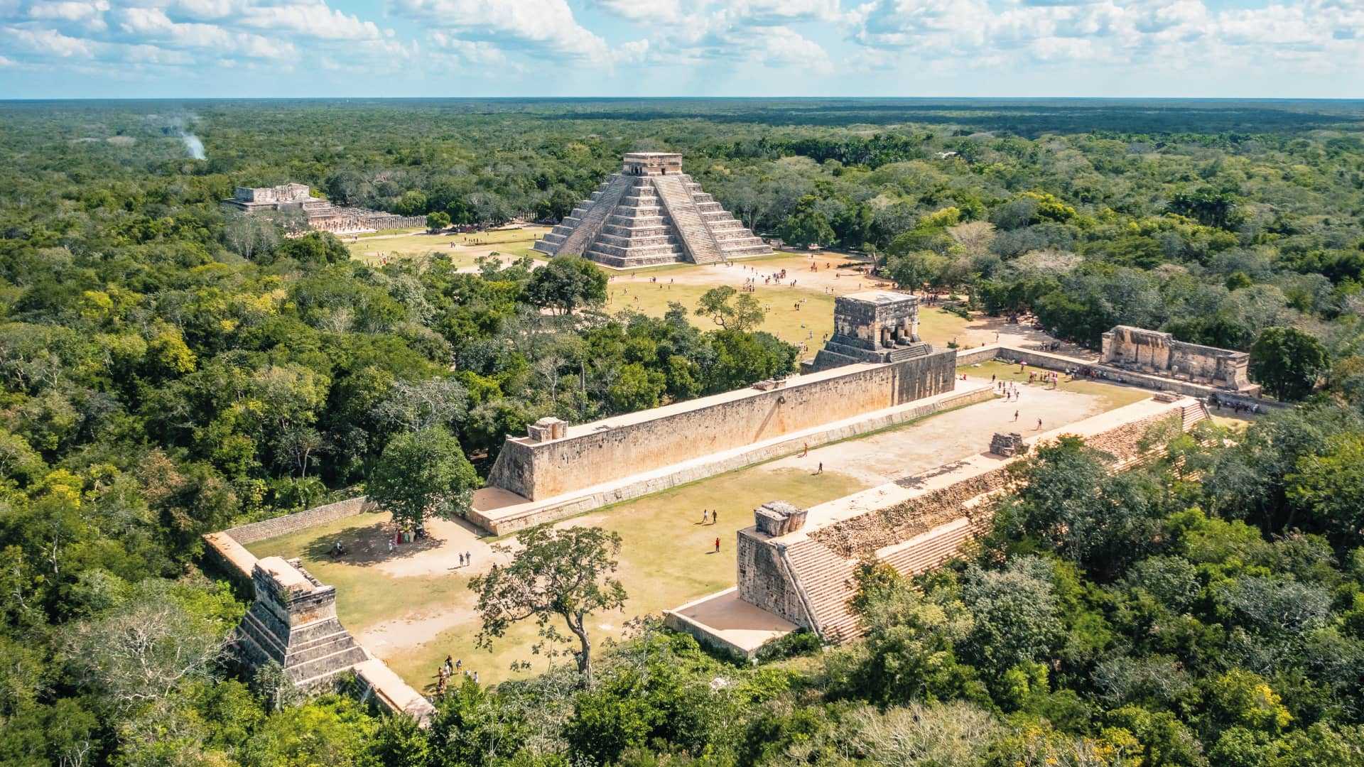
[[[998,375],[1004,367],[988,364],[963,373],[988,381],[992,370]],[[753,509],[764,502],[786,500],[809,506],[831,501],[983,452],[994,431],[1033,429],[1038,418],[1043,429],[1054,429],[1147,396],[1139,389],[1088,381],[1065,384],[1058,390],[1024,385],[1019,403],[996,400],[964,407],[817,448],[803,457],[777,459],[565,520],[559,524],[599,525],[623,539],[617,575],[630,600],[622,613],[597,617],[596,643],[618,637],[623,622],[634,616],[656,614],[732,585],[734,534],[752,524]],[[1019,423],[1013,422],[1015,409],[1020,411]],[[816,474],[821,463],[824,471]],[[704,509],[717,510],[723,521],[701,524]],[[529,673],[543,671],[548,661],[529,652],[533,622],[513,628],[495,641],[491,654],[475,647],[479,621],[466,584],[472,575],[506,557],[490,549],[498,540],[480,539],[472,528],[453,521],[435,521],[431,531],[431,540],[404,545],[390,554],[387,515],[372,513],[248,549],[258,557],[301,557],[315,576],[337,587],[337,609],[346,628],[419,689],[434,681],[447,652],[477,670],[484,681],[525,674],[509,670],[513,661],[531,662]],[[719,554],[713,553],[716,538]],[[327,549],[337,539],[351,553],[331,560]],[[458,566],[462,551],[472,554],[472,566]]]

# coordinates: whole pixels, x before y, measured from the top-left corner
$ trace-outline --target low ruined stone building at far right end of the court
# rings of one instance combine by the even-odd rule
[[[1176,341],[1169,333],[1118,325],[1103,333],[1105,364],[1217,386],[1255,397],[1260,386],[1247,377],[1251,355]]]

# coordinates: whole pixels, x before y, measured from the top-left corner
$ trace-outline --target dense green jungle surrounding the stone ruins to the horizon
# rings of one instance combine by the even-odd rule
[[[855,643],[745,665],[641,617],[591,684],[465,681],[427,727],[235,665],[201,535],[412,460],[466,493],[539,418],[797,349],[608,314],[572,257],[371,266],[220,201],[557,220],[632,150],[963,311],[1248,351],[1292,407],[1121,475],[1038,450],[966,555],[862,569]],[[1364,102],[0,102],[0,465],[5,766],[1364,764]]]

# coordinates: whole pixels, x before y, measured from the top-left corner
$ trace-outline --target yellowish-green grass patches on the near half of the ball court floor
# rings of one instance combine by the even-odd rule
[[[799,469],[773,471],[757,465],[561,523],[603,527],[619,532],[623,539],[617,575],[630,599],[623,613],[597,616],[599,624],[592,626],[595,643],[600,647],[606,637],[619,636],[623,622],[636,616],[662,613],[732,585],[734,534],[753,524],[754,508],[777,498],[810,506],[863,487],[857,479],[833,471],[814,476]],[[717,509],[724,521],[697,524],[702,509]],[[479,621],[473,614],[468,576],[391,577],[374,566],[327,558],[326,550],[333,540],[382,536],[386,523],[387,515],[361,515],[251,543],[248,549],[258,557],[300,557],[322,583],[337,587],[337,613],[356,635],[405,614],[417,616],[411,629],[430,631],[426,643],[391,654],[379,650],[393,670],[415,686],[431,684],[446,654],[479,670],[483,681],[521,676],[510,671],[514,661],[531,662],[532,669],[527,673],[546,669],[547,661],[528,650],[535,643],[533,621],[513,628],[496,641],[491,654],[475,647]],[[722,542],[719,554],[712,553],[716,538]],[[423,617],[431,618],[432,628],[445,628],[431,631],[421,625]]]

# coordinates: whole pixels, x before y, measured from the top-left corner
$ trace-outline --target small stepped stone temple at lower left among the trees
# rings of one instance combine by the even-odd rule
[[[258,560],[251,581],[255,600],[237,629],[247,663],[274,661],[293,684],[315,689],[367,661],[364,648],[337,620],[336,587],[323,585],[297,560]]]

